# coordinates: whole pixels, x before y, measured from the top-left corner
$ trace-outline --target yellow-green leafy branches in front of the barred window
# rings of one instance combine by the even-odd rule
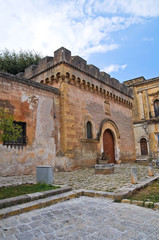
[[[21,136],[22,127],[14,123],[13,114],[4,108],[0,108],[0,141],[16,142]]]

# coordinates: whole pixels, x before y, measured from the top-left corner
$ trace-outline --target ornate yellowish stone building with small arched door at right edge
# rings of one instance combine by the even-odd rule
[[[159,157],[159,78],[144,77],[124,82],[133,89],[133,125],[136,157]]]

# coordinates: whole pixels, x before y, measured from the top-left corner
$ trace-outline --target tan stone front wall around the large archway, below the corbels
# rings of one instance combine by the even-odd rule
[[[62,146],[64,153],[73,159],[74,168],[94,166],[97,155],[103,152],[106,129],[111,129],[114,134],[116,163],[135,160],[130,107],[66,82],[61,84],[61,99]],[[92,139],[86,137],[87,121],[92,123]]]

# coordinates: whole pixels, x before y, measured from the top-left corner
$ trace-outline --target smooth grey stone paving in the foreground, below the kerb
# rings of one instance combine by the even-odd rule
[[[159,211],[80,197],[0,221],[5,240],[157,240]]]

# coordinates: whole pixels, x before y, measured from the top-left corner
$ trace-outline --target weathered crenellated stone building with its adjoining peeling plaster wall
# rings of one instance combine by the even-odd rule
[[[0,144],[0,175],[33,173],[37,165],[92,167],[107,150],[107,130],[112,161],[135,160],[132,90],[67,49],[17,76],[1,73],[0,84],[0,106],[26,122],[28,138],[20,150]]]

